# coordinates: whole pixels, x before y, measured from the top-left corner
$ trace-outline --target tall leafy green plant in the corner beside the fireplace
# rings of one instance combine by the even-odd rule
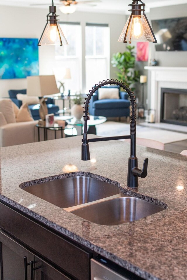
[[[117,67],[117,78],[131,87],[140,78],[139,71],[135,70],[134,46],[127,46],[128,51],[115,53],[112,56],[112,66]],[[132,90],[134,90],[132,88]]]

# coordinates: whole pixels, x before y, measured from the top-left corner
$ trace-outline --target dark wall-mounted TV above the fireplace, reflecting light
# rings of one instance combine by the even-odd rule
[[[187,51],[187,17],[152,20],[157,51]]]

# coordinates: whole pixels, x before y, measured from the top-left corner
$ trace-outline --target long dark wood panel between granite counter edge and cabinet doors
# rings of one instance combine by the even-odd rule
[[[63,236],[63,234],[60,234],[32,217],[27,216],[27,214],[14,209],[12,206],[8,206],[6,203],[1,202],[0,228],[2,232],[7,232],[12,236],[12,239],[20,242],[20,244],[24,246],[23,248],[32,251],[34,255],[39,256],[39,258],[41,257],[41,259],[44,258],[47,263],[56,267],[57,270],[62,271],[64,277],[67,275],[67,277],[70,277],[71,279],[90,279],[90,259],[92,258],[93,253],[89,249],[83,248],[75,241]],[[24,256],[25,253],[22,254],[22,257]],[[27,259],[27,270],[30,268],[30,261],[34,262],[34,260],[31,260],[30,258]],[[36,263],[33,263],[32,265],[34,267]],[[34,270],[34,272],[36,274],[37,269]],[[30,272],[28,277],[29,275]],[[60,279],[63,280],[62,277]],[[1,280],[17,279],[5,278]],[[22,280],[22,278],[19,278],[19,280]]]

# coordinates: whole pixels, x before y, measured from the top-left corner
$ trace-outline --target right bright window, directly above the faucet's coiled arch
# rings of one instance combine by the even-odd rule
[[[86,91],[110,77],[110,29],[108,24],[86,24]]]

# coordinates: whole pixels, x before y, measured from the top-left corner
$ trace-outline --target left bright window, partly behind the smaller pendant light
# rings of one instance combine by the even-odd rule
[[[77,22],[60,22],[60,27],[68,45],[55,46],[54,74],[56,81],[64,82],[65,93],[82,90],[82,38],[81,26]],[[70,69],[71,79],[63,79],[66,69]]]

